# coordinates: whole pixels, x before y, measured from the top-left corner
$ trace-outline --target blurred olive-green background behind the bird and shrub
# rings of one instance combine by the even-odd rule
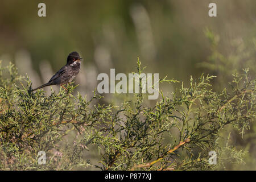
[[[46,17],[38,16],[40,2]],[[217,17],[208,15],[210,2],[217,4]],[[256,70],[255,0],[1,0],[0,6],[0,59],[27,73],[32,87],[47,82],[72,51],[84,58],[76,83],[88,97],[99,73],[135,71],[137,56],[146,72],[185,84],[191,75],[216,75],[216,90],[234,71]],[[241,169],[255,169],[255,131],[254,125],[246,140],[234,134],[232,144],[251,154],[251,164]]]

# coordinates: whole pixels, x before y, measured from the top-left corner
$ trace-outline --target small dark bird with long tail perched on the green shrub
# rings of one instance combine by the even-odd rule
[[[67,90],[63,85],[68,84],[77,76],[80,70],[81,60],[82,58],[79,56],[79,53],[77,53],[76,51],[71,52],[68,55],[67,64],[64,65],[64,67],[62,67],[57,73],[55,73],[55,75],[53,75],[46,84],[43,84],[38,88],[32,89],[32,92],[50,85],[60,85],[65,90]]]

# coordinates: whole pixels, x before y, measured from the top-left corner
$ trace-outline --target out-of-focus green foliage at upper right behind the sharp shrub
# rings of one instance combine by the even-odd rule
[[[214,34],[213,31],[207,28],[205,36],[209,39],[212,53],[208,61],[203,61],[199,65],[218,76],[216,87],[222,89],[232,79],[233,73],[243,72],[243,68],[250,68],[250,74],[255,75],[255,38],[250,38],[250,43],[241,38],[234,39],[229,45],[233,51],[229,51],[228,55],[225,55],[225,51],[219,50],[221,41],[219,35]]]

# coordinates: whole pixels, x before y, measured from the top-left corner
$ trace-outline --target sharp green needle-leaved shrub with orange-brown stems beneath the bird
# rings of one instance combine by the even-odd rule
[[[13,64],[0,67],[0,169],[198,170],[225,169],[227,159],[241,163],[243,151],[218,140],[227,125],[243,136],[255,121],[255,78],[248,72],[234,74],[230,92],[220,93],[212,90],[214,76],[191,77],[188,88],[160,91],[151,107],[141,93],[120,106],[98,104],[95,92],[90,100],[73,96],[72,85],[48,97],[31,93],[30,80]],[[45,165],[38,164],[39,151],[46,151]],[[208,163],[209,151],[217,152],[217,165]]]

